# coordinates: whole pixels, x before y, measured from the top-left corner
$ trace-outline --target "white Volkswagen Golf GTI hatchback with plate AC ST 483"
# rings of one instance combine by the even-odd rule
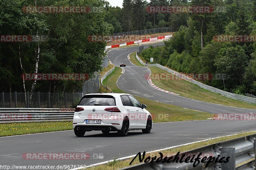
[[[86,131],[117,131],[126,136],[128,131],[142,130],[150,133],[152,116],[145,104],[130,94],[87,94],[79,102],[74,118],[75,135],[84,136]]]

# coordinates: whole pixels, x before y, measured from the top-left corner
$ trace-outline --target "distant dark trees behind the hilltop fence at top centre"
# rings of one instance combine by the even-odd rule
[[[186,4],[187,0],[174,0],[176,5]],[[113,25],[112,33],[130,32],[133,30],[143,30],[151,28],[168,27],[179,28],[182,22],[170,18],[168,13],[148,13],[146,8],[148,6],[169,6],[172,5],[172,0],[124,0],[123,8],[107,7],[107,14],[105,21]],[[183,15],[179,16],[183,17]],[[170,22],[169,22],[170,20]],[[178,24],[178,25],[177,25]]]

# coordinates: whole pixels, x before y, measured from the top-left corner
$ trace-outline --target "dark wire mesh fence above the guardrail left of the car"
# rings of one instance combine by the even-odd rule
[[[75,108],[83,93],[4,93],[0,108]]]

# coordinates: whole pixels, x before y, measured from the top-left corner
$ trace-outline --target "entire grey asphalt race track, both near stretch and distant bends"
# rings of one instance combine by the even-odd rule
[[[145,45],[144,47],[147,46]],[[126,67],[124,67],[125,73],[118,81],[119,88],[124,91],[150,100],[210,113],[256,112],[256,110],[200,102],[170,95],[152,88],[144,78],[145,74],[150,73],[148,68],[136,67],[127,59],[127,55],[137,49],[137,46],[133,46],[112,49],[108,52],[109,59],[116,66],[119,66],[120,63],[126,64]],[[114,157],[120,158],[137,154],[138,152],[231,135],[238,131],[256,131],[254,121],[203,120],[158,123],[153,124],[150,134],[142,134],[141,131],[130,131],[127,137],[118,137],[115,132],[104,135],[101,131],[86,132],[83,138],[76,137],[73,131],[4,137],[0,138],[0,162],[9,166],[13,164],[20,166],[88,166],[111,160]],[[27,160],[24,157],[22,158],[24,153],[88,153],[90,157],[87,160]]]

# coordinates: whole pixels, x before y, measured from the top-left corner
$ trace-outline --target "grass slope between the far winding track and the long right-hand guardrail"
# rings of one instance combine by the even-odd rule
[[[135,55],[136,53],[130,54],[130,58],[131,58],[130,60],[131,62],[133,62],[133,64],[137,65],[139,61],[137,60]],[[221,96],[220,94],[213,93],[211,91],[203,89],[197,86],[196,84],[182,80],[179,77],[172,74],[171,76],[169,76],[169,79],[171,77],[171,79],[173,80],[160,80],[160,76],[156,76],[156,75],[160,75],[161,73],[163,74],[170,74],[170,73],[158,67],[148,67],[148,68],[151,70],[151,74],[154,75],[154,76],[151,75],[152,82],[161,89],[177,93],[183,97],[188,97],[188,98],[196,99],[203,102],[222,104],[226,106],[234,106],[234,107],[240,107],[240,108],[256,109],[255,104],[241,102],[238,100]]]

